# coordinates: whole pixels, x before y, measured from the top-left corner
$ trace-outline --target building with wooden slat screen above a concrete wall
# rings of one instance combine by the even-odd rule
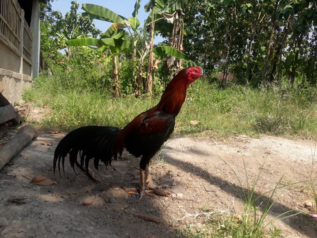
[[[39,3],[46,0],[0,0],[0,92],[11,104],[38,77]]]

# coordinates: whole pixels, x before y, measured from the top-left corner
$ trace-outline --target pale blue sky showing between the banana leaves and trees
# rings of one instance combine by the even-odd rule
[[[97,4],[103,7],[106,7],[115,13],[124,16],[126,18],[132,17],[132,12],[134,10],[134,4],[135,0],[77,0],[79,3],[79,9],[78,12],[82,12],[81,6],[83,3],[91,3],[91,4]],[[141,1],[141,7],[139,9],[138,13],[138,19],[141,23],[141,26],[143,26],[144,20],[148,17],[149,12],[145,12],[144,10],[144,4],[146,4],[148,0],[143,0]],[[70,6],[71,6],[71,0],[55,0],[52,3],[52,10],[60,10],[63,16],[65,16],[65,13],[70,11]],[[105,22],[105,21],[100,21],[100,20],[94,20],[95,26],[99,28],[102,31],[106,31],[112,23],[110,22]],[[154,40],[155,43],[162,42],[164,39],[160,36],[157,36],[156,39]]]

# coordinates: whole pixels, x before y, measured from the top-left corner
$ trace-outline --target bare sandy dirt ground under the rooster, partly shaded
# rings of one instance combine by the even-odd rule
[[[16,131],[12,129],[10,133],[12,136]],[[139,201],[137,195],[122,189],[123,186],[137,188],[131,183],[139,176],[139,158],[128,154],[124,155],[125,159],[114,161],[115,167],[106,168],[100,163],[99,171],[95,171],[101,180],[99,184],[78,168],[76,175],[68,161],[65,161],[66,178],[58,173],[54,175],[53,154],[64,135],[39,131],[38,138],[0,170],[0,237],[176,237],[177,229],[183,229],[186,224],[192,227],[204,224],[204,215],[183,218],[185,214],[202,213],[202,208],[243,215],[243,204],[226,180],[238,191],[241,185],[223,160],[246,186],[242,157],[251,183],[266,158],[256,186],[260,195],[274,188],[282,175],[282,184],[308,180],[316,143],[272,136],[256,139],[237,135],[223,141],[174,137],[161,150],[160,160],[154,160],[151,166],[155,183],[174,180],[171,186],[174,193],[157,198],[144,196]],[[52,146],[40,144],[42,141],[51,142]],[[36,175],[56,182],[50,186],[31,184]],[[276,195],[282,194],[273,205],[270,218],[292,209],[303,211],[275,222],[282,229],[283,237],[317,237],[317,221],[309,216],[313,209],[307,202],[312,199],[307,195],[307,186],[299,183],[285,191],[278,189]],[[259,202],[266,202],[268,197],[262,197]],[[8,202],[11,198],[25,198],[26,203]],[[93,203],[82,206],[83,202]],[[155,215],[162,221],[143,220],[135,214]]]

